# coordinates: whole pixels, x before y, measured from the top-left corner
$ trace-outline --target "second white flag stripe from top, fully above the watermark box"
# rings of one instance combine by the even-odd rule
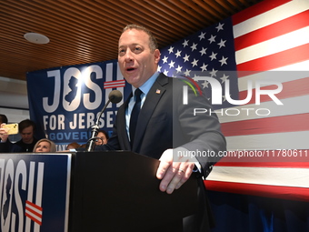
[[[309,43],[309,26],[285,35],[248,46],[235,52],[236,64],[242,64],[266,55],[273,55],[284,50]]]

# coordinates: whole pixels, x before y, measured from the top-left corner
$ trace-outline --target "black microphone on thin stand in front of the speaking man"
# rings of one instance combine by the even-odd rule
[[[106,107],[108,104],[111,103],[118,103],[123,99],[123,95],[119,90],[113,90],[111,93],[108,95],[108,101],[106,102],[105,106],[101,110],[100,114],[96,118],[95,125],[92,126],[91,130],[91,136],[87,141],[87,145],[85,146],[86,151],[93,151],[95,148],[95,139],[99,130],[99,120],[105,111]]]

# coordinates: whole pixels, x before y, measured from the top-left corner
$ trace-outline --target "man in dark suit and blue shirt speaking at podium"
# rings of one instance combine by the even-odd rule
[[[184,104],[185,82],[157,73],[159,60],[154,36],[145,27],[127,25],[119,39],[118,63],[125,80],[133,86],[133,94],[120,106],[113,136],[101,148],[131,150],[160,159],[156,177],[161,179],[160,190],[168,194],[197,171],[201,204],[198,214],[185,218],[184,231],[207,231],[212,222],[202,177],[207,177],[219,157],[205,154],[224,150],[225,139],[214,113],[194,115],[194,108],[212,109],[204,93],[195,96],[188,90],[188,104]],[[135,94],[135,89],[140,94]],[[140,112],[132,132],[130,121],[139,102],[136,97],[141,97]],[[200,156],[188,157],[188,151]],[[183,231],[182,222],[159,227],[157,231]]]

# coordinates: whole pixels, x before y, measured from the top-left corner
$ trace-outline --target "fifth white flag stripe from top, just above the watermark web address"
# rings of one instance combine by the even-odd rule
[[[226,136],[225,138],[227,150],[309,149],[309,131]]]

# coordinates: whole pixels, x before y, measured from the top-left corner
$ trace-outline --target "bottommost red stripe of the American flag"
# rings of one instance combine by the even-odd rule
[[[275,187],[213,180],[205,180],[204,185],[207,190],[219,192],[309,201],[309,188],[307,187]]]

